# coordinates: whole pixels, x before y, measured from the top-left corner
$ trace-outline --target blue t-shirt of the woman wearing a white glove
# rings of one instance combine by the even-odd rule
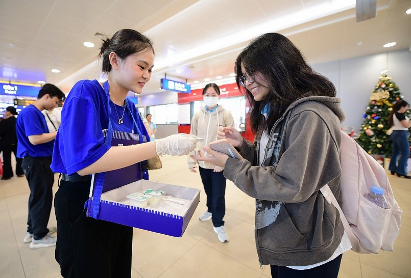
[[[118,118],[124,106],[110,100],[113,130],[148,133],[134,103],[126,99],[123,124]],[[117,114],[115,110],[117,109]],[[61,125],[54,144],[51,169],[56,173],[74,174],[99,160],[110,148],[103,144],[102,130],[108,129],[107,95],[97,80],[81,80],[71,89],[61,112]],[[117,116],[118,115],[118,116]],[[136,121],[137,126],[133,121]]]

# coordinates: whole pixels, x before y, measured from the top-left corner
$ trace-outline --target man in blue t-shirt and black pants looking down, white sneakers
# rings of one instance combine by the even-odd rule
[[[28,227],[23,241],[31,242],[31,249],[56,245],[56,238],[51,235],[56,230],[47,229],[47,223],[53,201],[54,173],[50,164],[57,131],[49,133],[41,111],[57,107],[64,98],[59,88],[44,84],[36,101],[17,117],[17,157],[23,158],[21,168],[30,187]]]

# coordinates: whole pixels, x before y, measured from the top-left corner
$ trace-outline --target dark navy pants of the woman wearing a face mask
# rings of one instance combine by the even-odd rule
[[[226,213],[226,178],[224,172],[213,172],[212,169],[199,167],[201,180],[207,195],[207,211],[212,213],[214,227],[224,226],[223,217]]]

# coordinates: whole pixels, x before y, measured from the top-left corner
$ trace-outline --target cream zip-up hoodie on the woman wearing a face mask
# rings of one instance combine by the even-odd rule
[[[204,146],[217,140],[217,130],[220,126],[234,126],[234,119],[229,110],[226,110],[222,105],[219,105],[209,112],[205,107],[201,109],[191,119],[190,134],[194,134],[204,139]],[[204,152],[204,151],[203,151]],[[204,169],[214,169],[214,166],[205,162],[192,159],[190,155],[196,155],[191,152],[188,155],[188,168],[193,168],[196,163]],[[204,153],[207,155],[207,153]]]

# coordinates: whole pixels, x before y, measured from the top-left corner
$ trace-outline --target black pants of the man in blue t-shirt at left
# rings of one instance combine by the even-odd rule
[[[26,156],[21,163],[30,187],[27,231],[32,233],[36,240],[49,233],[47,224],[52,210],[54,183],[51,163],[52,157],[32,156]]]

